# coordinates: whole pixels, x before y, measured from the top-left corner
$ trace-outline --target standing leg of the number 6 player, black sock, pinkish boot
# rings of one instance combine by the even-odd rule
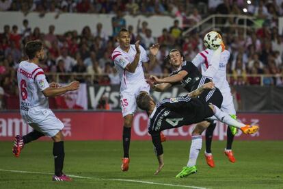
[[[70,177],[63,173],[63,166],[64,166],[64,137],[62,131],[59,131],[55,136],[52,137],[53,139],[53,155],[54,155],[54,166],[55,171],[52,177],[53,181],[72,181]]]

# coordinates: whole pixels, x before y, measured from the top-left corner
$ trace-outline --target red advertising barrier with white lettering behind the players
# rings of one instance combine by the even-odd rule
[[[122,114],[120,112],[55,112],[64,123],[65,140],[122,140]],[[252,136],[238,132],[236,140],[283,140],[281,114],[239,114],[243,123],[259,125],[260,130]],[[150,140],[148,116],[144,112],[133,119],[133,140]],[[190,140],[194,125],[163,131],[168,140]],[[213,137],[226,139],[227,126],[217,123]],[[21,119],[18,112],[0,112],[0,141],[14,139],[17,134],[25,135],[32,128]],[[42,138],[46,140],[47,138]]]

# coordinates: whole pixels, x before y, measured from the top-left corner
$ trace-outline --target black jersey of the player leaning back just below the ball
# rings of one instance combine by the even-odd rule
[[[192,62],[189,61],[183,62],[180,70],[172,72],[171,75],[175,75],[180,71],[187,71],[188,74],[182,79],[182,81],[176,82],[173,85],[180,84],[188,92],[196,90],[199,86],[202,86],[203,84],[206,84],[211,81],[211,79],[208,79],[208,77],[203,77],[202,73],[198,71],[198,68]]]

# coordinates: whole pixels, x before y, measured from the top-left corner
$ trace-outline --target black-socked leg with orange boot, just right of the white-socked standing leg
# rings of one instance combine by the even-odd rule
[[[211,143],[213,140],[213,131],[216,127],[216,123],[214,123],[214,121],[210,121],[210,123],[211,124],[209,125],[209,127],[207,127],[205,133],[206,150],[204,152],[204,156],[205,156],[206,164],[208,164],[208,166],[213,168],[215,167],[215,164],[213,160],[213,155],[211,153]]]

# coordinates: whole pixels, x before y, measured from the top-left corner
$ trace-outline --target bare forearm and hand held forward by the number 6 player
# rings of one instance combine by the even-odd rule
[[[74,91],[79,88],[79,81],[72,81],[72,83],[68,84],[68,86],[62,86],[59,88],[46,88],[43,90],[43,95],[45,97],[57,97],[59,95],[63,95],[68,91]]]

